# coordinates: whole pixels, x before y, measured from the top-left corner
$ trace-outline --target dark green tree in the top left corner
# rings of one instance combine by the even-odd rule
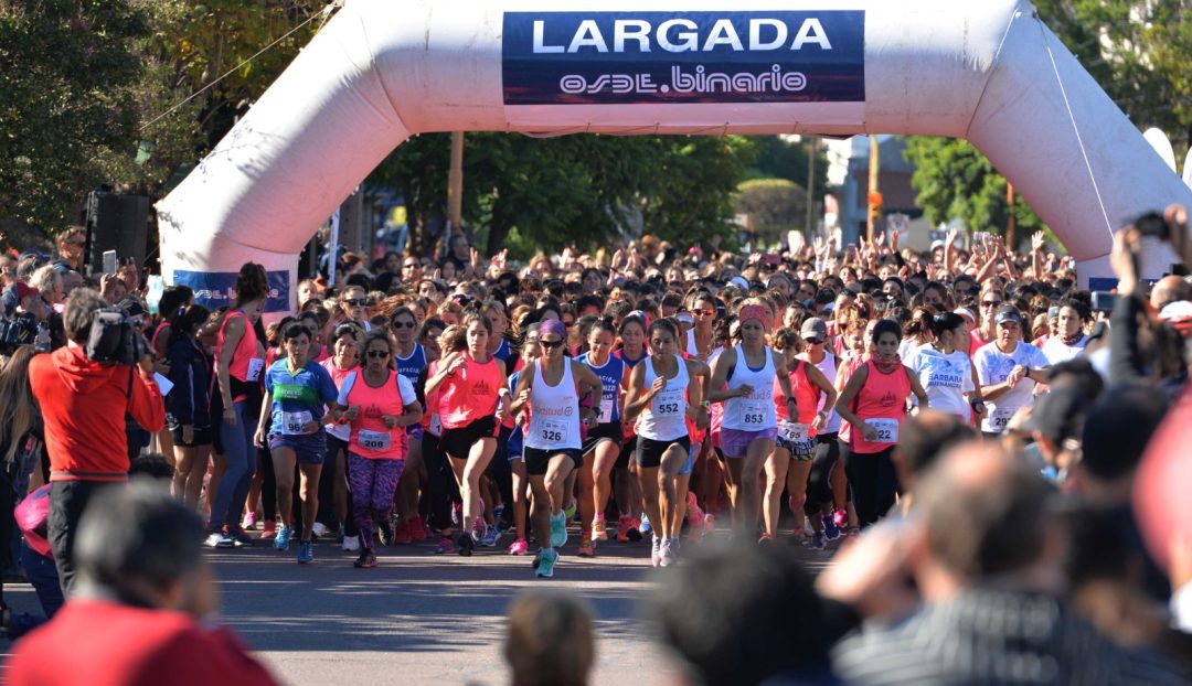
[[[135,87],[147,37],[126,0],[0,1],[0,220],[52,231],[137,149]]]

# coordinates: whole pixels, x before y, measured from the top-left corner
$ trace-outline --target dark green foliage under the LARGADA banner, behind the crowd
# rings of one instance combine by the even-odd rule
[[[449,135],[417,136],[386,158],[368,182],[406,201],[414,250],[428,251],[426,225],[447,200]],[[737,136],[529,138],[470,133],[464,149],[464,222],[502,248],[596,248],[634,224],[663,239],[727,237],[733,186],[752,158]],[[507,237],[516,242],[507,245]]]

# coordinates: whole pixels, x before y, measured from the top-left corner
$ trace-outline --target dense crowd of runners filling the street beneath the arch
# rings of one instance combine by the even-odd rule
[[[1178,212],[1160,220],[1186,231]],[[135,266],[92,291],[81,237],[2,264],[6,316],[33,339],[6,347],[0,376],[13,486],[0,534],[19,529],[67,590],[79,484],[128,469],[80,456],[103,436],[48,406],[82,407],[46,389],[35,351],[83,379],[100,310],[148,342],[117,387],[128,459],[166,457],[209,547],[272,545],[305,565],[334,541],[321,555],[358,568],[378,547],[501,548],[546,578],[609,545],[648,547],[656,567],[709,536],[834,548],[909,507],[908,417],[946,417],[1073,488],[1081,395],[1125,379],[1178,397],[1192,328],[1186,279],[1147,298],[1134,286],[1135,230],[1115,248],[1116,308],[1042,233],[1024,254],[983,233],[929,251],[880,232],[753,254],[647,236],[523,268],[457,236],[440,260],[343,255],[335,283],[302,281],[280,319],[265,316],[254,263],[216,310],[174,286],[150,314]],[[86,380],[67,386],[86,394]],[[13,517],[45,484],[75,503],[57,525],[51,503],[49,534],[44,514]]]

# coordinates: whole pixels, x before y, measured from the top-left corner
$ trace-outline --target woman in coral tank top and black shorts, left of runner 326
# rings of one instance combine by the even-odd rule
[[[504,362],[489,355],[492,325],[484,314],[464,316],[467,349],[443,357],[427,379],[427,394],[442,389],[439,413],[442,420],[442,449],[464,498],[464,530],[455,541],[459,554],[470,556],[476,542],[472,526],[480,518],[480,475],[497,450],[497,425],[508,411]],[[480,519],[483,523],[483,519]],[[482,524],[483,525],[483,524]]]

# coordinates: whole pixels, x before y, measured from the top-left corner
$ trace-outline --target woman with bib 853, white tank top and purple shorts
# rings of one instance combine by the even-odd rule
[[[762,466],[778,436],[775,381],[789,416],[797,416],[799,407],[784,357],[765,345],[769,307],[760,300],[746,300],[737,317],[741,343],[713,362],[709,400],[725,404],[720,445],[728,462],[733,526],[738,534],[756,536]]]

